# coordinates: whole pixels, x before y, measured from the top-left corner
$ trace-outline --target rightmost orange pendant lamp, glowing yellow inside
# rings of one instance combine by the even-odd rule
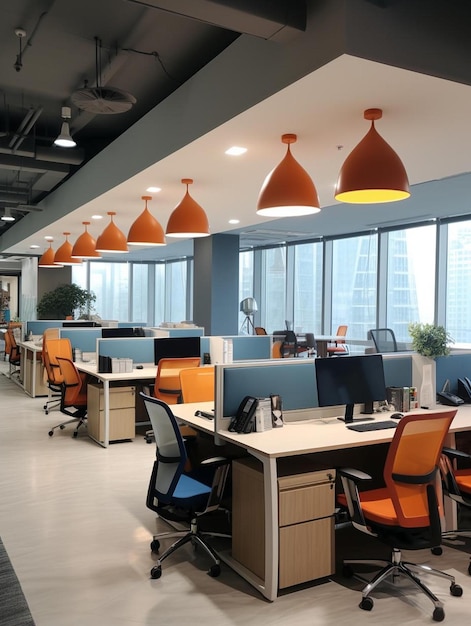
[[[410,196],[406,169],[375,128],[381,109],[367,109],[371,128],[346,158],[337,180],[335,199],[352,204],[396,202]]]

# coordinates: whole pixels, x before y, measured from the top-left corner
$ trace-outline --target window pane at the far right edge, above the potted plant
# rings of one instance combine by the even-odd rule
[[[457,342],[471,343],[471,222],[448,224],[446,329]]]

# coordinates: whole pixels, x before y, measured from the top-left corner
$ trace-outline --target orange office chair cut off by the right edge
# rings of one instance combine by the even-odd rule
[[[457,463],[465,465],[465,467],[457,469]],[[471,507],[471,456],[461,450],[443,448],[440,471],[443,493],[456,502],[458,506]],[[447,530],[443,533],[443,538],[455,537],[456,535],[469,537],[471,529]],[[468,574],[471,575],[471,561],[468,565]]]

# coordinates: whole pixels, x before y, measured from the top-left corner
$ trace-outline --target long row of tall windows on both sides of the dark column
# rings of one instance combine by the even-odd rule
[[[295,331],[317,335],[347,324],[347,336],[355,339],[366,339],[370,328],[392,328],[398,341],[407,342],[408,324],[427,322],[471,344],[470,279],[471,217],[239,255],[239,301],[255,298],[254,325],[268,333],[288,320]],[[103,319],[159,325],[193,317],[191,258],[90,261],[72,269],[72,280],[96,294]]]

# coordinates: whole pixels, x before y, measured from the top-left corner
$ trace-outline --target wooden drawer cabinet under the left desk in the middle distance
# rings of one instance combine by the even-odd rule
[[[136,436],[135,405],[136,388],[110,388],[110,441],[123,441]],[[99,442],[105,440],[103,386],[89,384],[87,389],[87,431]]]

